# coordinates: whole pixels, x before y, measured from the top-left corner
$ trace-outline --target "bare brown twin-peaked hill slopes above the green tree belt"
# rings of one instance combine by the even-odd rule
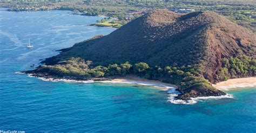
[[[211,83],[222,58],[255,58],[256,35],[213,12],[179,14],[156,10],[131,21],[109,35],[76,43],[47,58],[46,65],[70,57],[93,65],[146,62],[161,67],[204,64],[203,76]]]

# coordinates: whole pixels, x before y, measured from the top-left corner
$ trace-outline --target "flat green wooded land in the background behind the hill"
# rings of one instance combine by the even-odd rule
[[[80,14],[97,16],[104,15],[116,18],[116,23],[126,24],[153,9],[169,9],[180,13],[192,11],[213,11],[226,16],[228,19],[252,29],[256,32],[256,4],[254,0],[199,1],[199,0],[32,0],[17,2],[2,0],[0,6],[11,8],[10,11],[37,10],[71,10]]]

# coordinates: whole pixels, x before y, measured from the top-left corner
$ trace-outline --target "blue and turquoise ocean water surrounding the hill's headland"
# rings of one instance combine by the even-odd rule
[[[0,130],[26,132],[255,132],[256,88],[233,99],[168,102],[158,88],[45,82],[16,74],[55,50],[114,29],[87,26],[102,17],[69,11],[0,11]],[[27,49],[30,38],[34,48]]]

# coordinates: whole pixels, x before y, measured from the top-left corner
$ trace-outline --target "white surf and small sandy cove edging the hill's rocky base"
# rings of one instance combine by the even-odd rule
[[[133,85],[142,85],[142,86],[151,86],[159,88],[161,91],[165,91],[168,94],[167,101],[172,104],[196,104],[198,101],[207,100],[207,99],[223,99],[223,98],[233,98],[233,95],[226,94],[220,96],[209,96],[209,97],[196,97],[191,98],[190,100],[177,99],[177,96],[181,94],[179,87],[177,85],[163,83],[158,80],[149,80],[136,76],[126,76],[119,78],[87,78],[87,79],[78,79],[78,78],[67,78],[67,77],[55,77],[55,76],[42,76],[34,75],[32,73],[25,72],[15,72],[16,74],[26,74],[28,77],[36,77],[46,82],[70,82],[70,83],[110,83],[110,84],[133,84]]]

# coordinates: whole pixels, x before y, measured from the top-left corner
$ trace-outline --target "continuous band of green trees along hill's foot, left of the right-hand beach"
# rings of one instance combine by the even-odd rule
[[[206,79],[199,78],[200,73],[203,72],[203,65],[167,66],[161,68],[159,66],[150,67],[145,62],[136,64],[125,62],[122,64],[110,64],[106,67],[100,65],[92,67],[91,64],[91,61],[84,61],[81,58],[70,58],[70,60],[59,62],[57,65],[43,65],[42,69],[48,71],[50,75],[78,78],[119,77],[132,74],[180,85],[181,91],[194,86],[212,87]]]

